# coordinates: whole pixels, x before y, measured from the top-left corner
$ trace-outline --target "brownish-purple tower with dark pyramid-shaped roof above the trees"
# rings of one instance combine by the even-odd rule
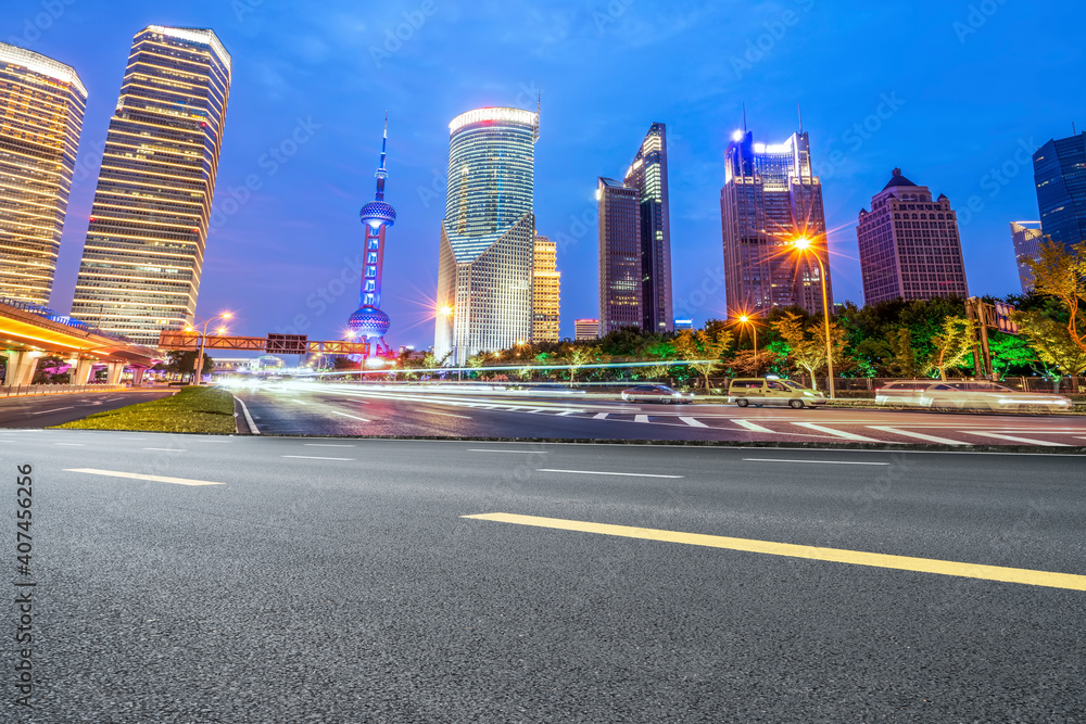
[[[932,201],[927,187],[907,179],[900,168],[872,196],[871,211],[860,209],[856,237],[867,304],[969,296],[950,201],[944,194]]]

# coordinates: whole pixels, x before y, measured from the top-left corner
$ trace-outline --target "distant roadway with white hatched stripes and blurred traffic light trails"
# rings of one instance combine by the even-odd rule
[[[301,383],[239,392],[238,397],[260,432],[278,435],[1086,445],[1086,417],[1059,415],[743,409]]]

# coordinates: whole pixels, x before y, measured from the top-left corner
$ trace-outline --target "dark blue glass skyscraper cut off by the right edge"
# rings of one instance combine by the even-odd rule
[[[1086,131],[1040,147],[1033,178],[1044,234],[1064,246],[1086,241]]]

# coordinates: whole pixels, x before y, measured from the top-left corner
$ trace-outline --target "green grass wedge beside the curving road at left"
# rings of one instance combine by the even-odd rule
[[[233,395],[215,388],[181,388],[171,397],[89,415],[67,430],[232,433]]]

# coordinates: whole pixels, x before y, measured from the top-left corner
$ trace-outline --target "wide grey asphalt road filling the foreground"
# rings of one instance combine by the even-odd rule
[[[36,708],[4,682],[0,719],[1081,722],[1084,458],[1052,453],[2,432],[37,586]]]

